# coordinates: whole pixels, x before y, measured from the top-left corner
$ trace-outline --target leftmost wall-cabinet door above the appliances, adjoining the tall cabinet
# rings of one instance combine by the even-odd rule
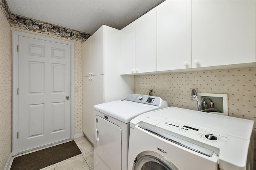
[[[120,74],[135,71],[135,21],[120,30]]]

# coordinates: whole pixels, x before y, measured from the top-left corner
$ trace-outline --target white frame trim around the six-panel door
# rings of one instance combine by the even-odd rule
[[[64,40],[57,40],[54,38],[48,38],[43,36],[38,36],[34,34],[28,34],[24,32],[12,31],[12,156],[18,154],[18,36],[24,36],[28,38],[36,38],[39,40],[47,40],[56,43],[63,43],[71,46],[71,61],[70,61],[70,82],[71,82],[71,94],[70,94],[70,109],[71,109],[71,117],[70,117],[70,137],[74,139],[74,87],[75,87],[75,59],[74,59],[74,42],[68,42]]]

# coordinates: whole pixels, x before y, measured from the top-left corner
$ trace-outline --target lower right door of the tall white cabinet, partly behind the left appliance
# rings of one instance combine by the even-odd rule
[[[95,115],[93,111],[94,105],[104,103],[104,75],[92,76],[92,95],[91,95],[91,142],[94,142],[95,137]]]

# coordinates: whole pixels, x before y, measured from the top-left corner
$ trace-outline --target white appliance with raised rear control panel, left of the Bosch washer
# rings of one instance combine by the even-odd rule
[[[160,97],[130,94],[124,100],[94,106],[94,170],[126,170],[130,121],[168,107]]]

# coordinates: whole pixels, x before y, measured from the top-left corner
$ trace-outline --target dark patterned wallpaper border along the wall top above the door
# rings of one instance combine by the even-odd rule
[[[6,19],[10,23],[10,26],[12,27],[21,28],[23,30],[29,30],[33,32],[39,32],[42,34],[57,36],[61,38],[66,38],[70,40],[76,40],[80,42],[84,42],[86,39],[88,39],[92,35],[85,32],[80,32],[77,30],[65,28],[62,26],[49,24],[39,20],[34,20],[32,18],[27,18],[24,16],[12,14],[10,12],[10,8],[8,7],[6,0],[0,0],[0,8],[4,12]]]

